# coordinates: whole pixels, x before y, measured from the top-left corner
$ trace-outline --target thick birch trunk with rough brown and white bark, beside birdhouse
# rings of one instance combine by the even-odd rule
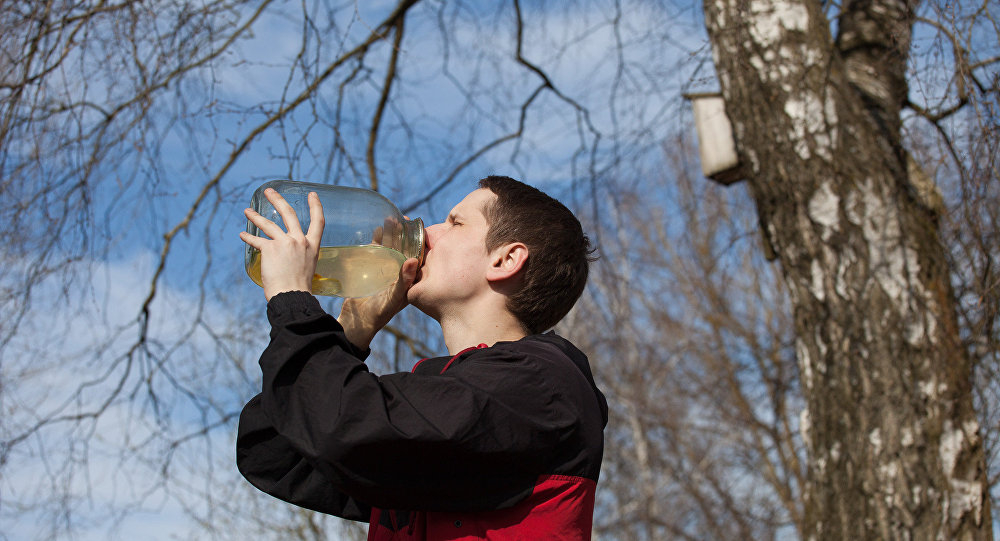
[[[915,4],[706,0],[737,151],[793,301],[803,539],[990,539],[971,362],[900,135]]]

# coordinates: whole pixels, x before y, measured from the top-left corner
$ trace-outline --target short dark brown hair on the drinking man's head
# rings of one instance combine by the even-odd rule
[[[510,177],[489,176],[479,187],[496,195],[483,209],[486,249],[511,242],[528,247],[523,284],[507,298],[507,309],[529,333],[554,327],[587,285],[593,250],[580,220],[559,201]]]

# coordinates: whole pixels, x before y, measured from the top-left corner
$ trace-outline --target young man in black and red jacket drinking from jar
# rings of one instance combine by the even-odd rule
[[[309,293],[323,229],[310,194],[304,233],[246,214],[261,250],[271,342],[263,389],[240,416],[237,464],[287,502],[368,521],[369,539],[589,539],[607,402],[587,358],[540,334],[573,306],[589,241],[562,204],[488,177],[427,228],[422,267],[344,301]],[[441,324],[449,355],[377,376],[363,360],[406,304]]]

